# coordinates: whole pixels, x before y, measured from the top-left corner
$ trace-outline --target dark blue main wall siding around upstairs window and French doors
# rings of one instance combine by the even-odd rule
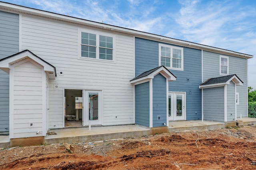
[[[136,76],[159,66],[159,43],[135,38]],[[201,119],[202,114],[201,89],[198,87],[202,82],[202,52],[198,49],[183,47],[183,53],[184,71],[170,70],[177,78],[176,81],[169,82],[169,91],[186,92],[186,120],[197,120]]]

